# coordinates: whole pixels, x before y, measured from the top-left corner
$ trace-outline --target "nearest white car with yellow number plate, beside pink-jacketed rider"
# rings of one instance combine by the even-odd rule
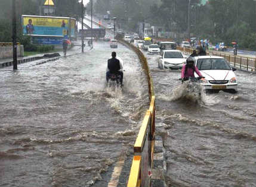
[[[224,90],[236,93],[238,91],[238,80],[234,71],[226,59],[220,56],[196,56],[195,65],[205,77],[202,83],[205,90]],[[195,73],[195,77],[198,75]]]

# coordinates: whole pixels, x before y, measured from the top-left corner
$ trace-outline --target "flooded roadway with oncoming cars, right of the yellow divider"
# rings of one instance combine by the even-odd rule
[[[256,186],[256,76],[236,71],[238,93],[196,99],[180,70],[158,68],[147,55],[156,94],[156,125],[165,129],[170,187]]]

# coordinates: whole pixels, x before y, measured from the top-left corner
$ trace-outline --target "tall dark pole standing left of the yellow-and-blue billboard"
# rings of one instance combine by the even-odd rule
[[[16,0],[13,0],[13,70],[17,70]]]

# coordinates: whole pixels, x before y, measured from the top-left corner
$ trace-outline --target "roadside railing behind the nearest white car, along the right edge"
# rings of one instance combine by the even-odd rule
[[[178,50],[181,50],[186,55],[190,55],[194,49],[177,47]],[[221,52],[206,52],[206,55],[211,56],[221,56],[229,62],[230,65],[247,72],[256,73],[256,58],[248,58],[245,56],[237,56],[237,55],[227,55],[226,53]]]

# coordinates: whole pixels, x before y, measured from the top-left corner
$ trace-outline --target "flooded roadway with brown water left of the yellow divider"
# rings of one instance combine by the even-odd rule
[[[124,88],[105,85],[124,60]],[[94,42],[81,55],[0,70],[0,186],[97,186],[129,154],[149,106],[137,55]]]

